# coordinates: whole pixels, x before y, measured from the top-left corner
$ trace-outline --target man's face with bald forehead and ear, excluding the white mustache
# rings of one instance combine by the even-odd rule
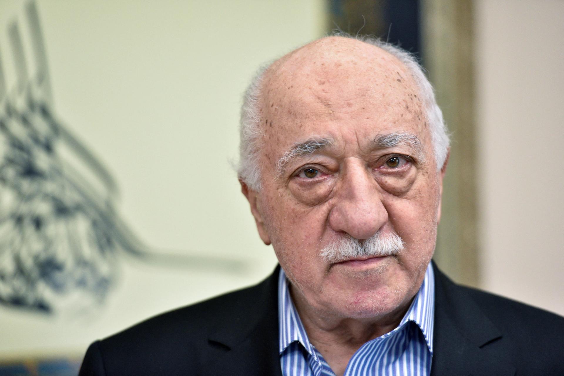
[[[248,197],[294,299],[338,317],[403,309],[434,251],[442,185],[408,71],[376,47],[327,38],[275,63],[262,93],[262,187]],[[321,256],[347,235],[362,243],[377,231],[405,249]]]

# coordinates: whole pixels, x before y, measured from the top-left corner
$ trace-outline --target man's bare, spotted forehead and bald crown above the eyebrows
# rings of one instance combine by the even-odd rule
[[[265,76],[262,127],[271,154],[310,136],[369,142],[381,132],[409,131],[424,141],[418,88],[399,60],[354,39],[318,42],[275,62]]]

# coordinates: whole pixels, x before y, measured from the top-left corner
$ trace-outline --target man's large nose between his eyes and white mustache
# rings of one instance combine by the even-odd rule
[[[372,174],[361,165],[346,168],[329,212],[329,226],[355,239],[368,239],[388,220],[382,195]]]

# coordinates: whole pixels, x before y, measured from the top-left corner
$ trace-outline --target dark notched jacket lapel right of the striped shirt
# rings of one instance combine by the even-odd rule
[[[509,359],[489,344],[502,337],[464,289],[433,263],[435,323],[431,376],[514,375]]]

